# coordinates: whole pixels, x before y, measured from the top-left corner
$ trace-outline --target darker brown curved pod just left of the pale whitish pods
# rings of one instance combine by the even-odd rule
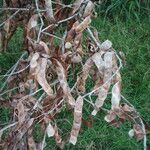
[[[82,69],[81,75],[77,79],[77,88],[80,92],[85,92],[85,81],[89,75],[90,69],[93,66],[93,61],[89,58]]]

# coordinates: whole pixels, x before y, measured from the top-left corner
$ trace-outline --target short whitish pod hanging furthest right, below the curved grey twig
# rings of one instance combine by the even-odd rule
[[[117,82],[112,88],[111,109],[119,108],[121,100],[120,82]]]

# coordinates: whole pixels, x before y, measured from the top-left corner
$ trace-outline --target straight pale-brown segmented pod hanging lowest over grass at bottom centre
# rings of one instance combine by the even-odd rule
[[[81,122],[82,122],[82,107],[83,107],[83,98],[79,96],[76,100],[75,108],[74,108],[74,121],[73,127],[71,129],[71,135],[69,142],[73,145],[77,142],[77,137],[80,131]]]

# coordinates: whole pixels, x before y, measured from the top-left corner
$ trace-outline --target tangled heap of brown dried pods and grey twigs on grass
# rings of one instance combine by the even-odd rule
[[[1,149],[44,149],[45,137],[53,137],[60,148],[66,142],[73,145],[82,124],[84,103],[89,103],[95,116],[105,110],[105,120],[115,127],[124,121],[133,122],[129,135],[138,140],[144,138],[146,150],[146,130],[142,119],[131,104],[122,102],[121,74],[124,56],[113,48],[111,41],[100,41],[97,30],[91,30],[94,15],[94,1],[76,0],[65,5],[61,0],[16,0],[4,1],[3,19],[0,26],[1,51],[17,27],[24,31],[24,53],[18,62],[4,75],[0,94],[0,104],[12,110],[11,124],[0,130],[0,135],[9,129],[8,136],[1,138]],[[57,36],[63,30],[61,37]],[[86,33],[87,40],[83,36]],[[56,40],[59,44],[56,44]],[[81,65],[75,84],[68,83],[69,69]],[[93,78],[95,86],[86,92],[88,77]],[[38,95],[41,93],[40,96]],[[111,93],[111,109],[103,104]],[[95,102],[92,96],[96,96]],[[67,140],[55,122],[62,108],[74,115],[72,129]],[[39,122],[45,133],[41,143],[35,143],[33,126]]]

